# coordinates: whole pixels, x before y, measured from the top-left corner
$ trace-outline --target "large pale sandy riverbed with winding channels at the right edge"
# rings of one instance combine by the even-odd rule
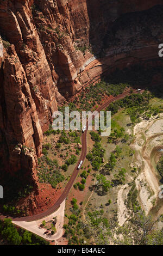
[[[142,171],[135,183],[139,190],[139,199],[146,214],[152,209],[154,200],[158,199],[159,181],[155,169],[151,163],[151,151],[154,147],[161,145],[161,134],[163,134],[163,119],[142,121],[135,125],[135,142],[132,147],[136,151],[136,163]],[[141,139],[142,135],[145,140]],[[142,142],[143,141],[143,142]]]

